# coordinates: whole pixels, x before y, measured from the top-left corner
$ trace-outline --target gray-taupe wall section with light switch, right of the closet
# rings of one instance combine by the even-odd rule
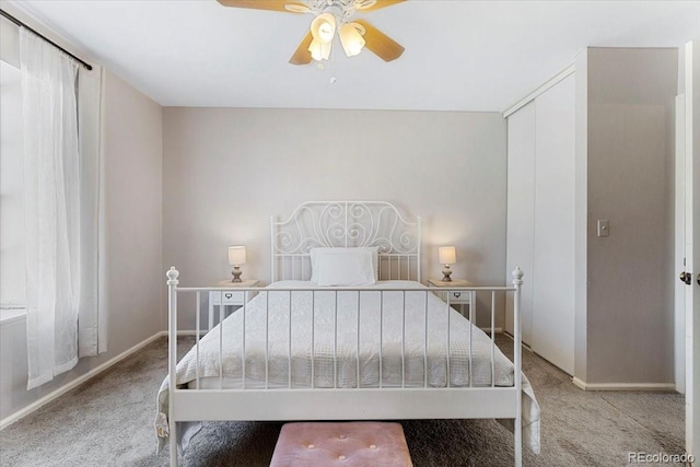
[[[677,71],[676,49],[587,52],[588,384],[674,381]]]

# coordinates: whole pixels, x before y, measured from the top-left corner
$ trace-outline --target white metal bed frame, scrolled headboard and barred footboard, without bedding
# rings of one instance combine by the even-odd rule
[[[308,250],[328,246],[377,246],[382,279],[420,281],[421,220],[407,222],[399,211],[383,201],[307,202],[301,205],[290,219],[271,219],[272,279],[307,280],[311,275]],[[520,289],[523,272],[513,271],[513,287],[454,288],[450,291],[475,294],[491,293],[491,341],[494,339],[494,296],[497,292],[513,293],[514,307],[514,385],[512,387],[354,387],[354,388],[292,388],[284,389],[180,389],[176,385],[177,365],[177,297],[179,293],[196,293],[196,346],[200,335],[200,293],[223,289],[178,288],[179,272],[167,271],[168,285],[168,429],[171,466],[177,466],[178,421],[201,420],[390,420],[390,419],[512,419],[514,421],[514,463],[522,465],[522,338]],[[257,292],[260,289],[236,288],[236,292]],[[289,291],[301,289],[275,289]],[[303,289],[308,291],[314,289]],[[318,289],[315,289],[318,290]],[[327,288],[322,289],[327,291]],[[348,288],[339,290],[347,291]],[[368,289],[351,288],[361,292]],[[372,289],[376,291],[377,289]],[[396,289],[394,289],[396,290]],[[443,289],[441,289],[442,291]],[[338,291],[336,291],[336,294]],[[427,291],[425,293],[431,293]],[[337,296],[337,295],[336,295]],[[474,299],[474,296],[472,296]],[[471,301],[476,304],[476,301]],[[450,303],[447,303],[447,310]],[[223,312],[223,311],[222,311]],[[475,306],[469,307],[474,323]],[[243,307],[245,316],[245,305]],[[337,310],[336,310],[337,313]],[[220,319],[223,316],[220,316]],[[245,319],[244,334],[245,334]],[[219,328],[221,329],[221,327]],[[313,329],[312,329],[313,334]],[[450,340],[450,338],[447,339]],[[493,350],[492,350],[493,351]],[[471,352],[471,349],[469,349]],[[447,354],[450,351],[447,350]],[[290,357],[291,359],[291,357]],[[492,357],[493,359],[493,357]],[[245,342],[243,378],[245,380]],[[381,359],[380,359],[381,362]],[[493,363],[492,363],[493,364]],[[447,358],[450,367],[450,358]],[[380,363],[380,372],[382,363]],[[405,371],[405,370],[404,370]],[[381,374],[381,373],[380,373]],[[198,376],[199,377],[199,376]],[[267,377],[267,376],[266,376]],[[492,377],[495,376],[492,374]],[[312,378],[313,381],[313,378]],[[197,383],[199,384],[199,383]],[[267,387],[267,383],[266,383]],[[310,396],[313,404],[308,404]],[[232,404],[233,402],[233,404]]]

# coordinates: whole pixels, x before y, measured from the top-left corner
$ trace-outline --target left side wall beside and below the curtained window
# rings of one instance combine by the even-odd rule
[[[106,75],[103,110],[104,244],[107,352],[80,359],[68,373],[26,390],[26,324],[0,327],[0,419],[37,401],[162,330],[160,105]]]

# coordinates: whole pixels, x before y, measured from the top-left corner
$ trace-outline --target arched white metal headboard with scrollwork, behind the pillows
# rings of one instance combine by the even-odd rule
[[[389,202],[308,201],[270,227],[272,281],[308,280],[308,250],[332,246],[376,246],[381,280],[420,281],[421,218],[408,222]]]

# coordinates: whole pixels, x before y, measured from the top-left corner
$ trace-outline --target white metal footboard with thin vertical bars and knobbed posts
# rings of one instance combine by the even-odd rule
[[[444,311],[446,316],[446,350],[445,350],[445,382],[443,385],[436,384],[431,381],[429,375],[429,366],[431,366],[431,353],[430,342],[424,339],[422,342],[422,382],[417,383],[413,377],[412,371],[407,371],[408,366],[415,366],[415,362],[408,361],[407,346],[411,346],[412,342],[407,342],[407,324],[415,325],[411,318],[416,317],[413,308],[407,311],[407,295],[411,294],[424,297],[424,308],[422,322],[420,326],[423,328],[424,336],[430,335],[430,322],[432,315],[429,312],[429,301],[432,301],[431,295],[435,290],[433,289],[376,289],[376,288],[353,288],[353,289],[332,289],[327,288],[308,288],[308,289],[253,289],[253,288],[236,288],[235,292],[244,292],[246,295],[253,295],[258,293],[257,302],[244,301],[244,305],[234,312],[237,314],[235,317],[232,315],[230,318],[237,319],[241,326],[241,335],[229,336],[226,335],[225,325],[225,312],[223,301],[220,301],[222,305],[219,308],[219,325],[210,331],[210,336],[202,334],[205,329],[201,327],[200,314],[202,311],[202,293],[209,295],[210,292],[226,293],[231,292],[228,289],[221,288],[178,288],[178,275],[179,272],[175,268],[171,268],[167,271],[167,284],[168,284],[168,382],[170,382],[170,407],[168,407],[168,423],[170,423],[170,448],[171,448],[171,465],[177,465],[177,436],[176,436],[176,422],[177,421],[192,421],[192,420],[353,420],[353,419],[440,419],[440,418],[499,418],[499,419],[513,419],[515,421],[514,441],[515,441],[515,465],[520,466],[522,463],[522,352],[521,352],[521,316],[520,316],[520,289],[523,283],[523,272],[518,269],[513,271],[513,285],[512,287],[469,287],[469,288],[441,288],[440,292],[454,291],[471,294],[471,301],[469,306],[468,322],[474,324],[477,314],[477,301],[476,294],[480,297],[490,297],[487,300],[490,304],[490,323],[485,329],[490,339],[490,384],[476,384],[476,375],[472,373],[475,369],[475,336],[477,332],[474,326],[468,326],[469,337],[467,339],[467,358],[468,369],[467,381],[468,384],[455,383],[453,378],[453,372],[458,371],[463,366],[455,366],[453,355],[453,338],[454,332],[453,319],[460,319],[456,316],[457,312],[452,310],[451,303],[447,300],[444,303]],[[497,353],[498,346],[495,345],[495,313],[497,313],[497,300],[500,295],[512,293],[514,295],[514,377],[512,386],[500,386],[497,382]],[[279,329],[277,334],[271,332],[270,319],[271,314],[277,313],[276,308],[271,304],[271,300],[275,301],[275,294],[278,296],[288,296],[290,303],[290,312],[288,314],[289,322],[287,326],[285,343],[287,349],[287,384],[280,384],[279,377],[271,376],[271,352],[270,346],[276,346],[278,342],[276,339],[279,337]],[[300,384],[299,381],[294,381],[293,377],[293,364],[295,361],[293,349],[293,334],[294,326],[299,323],[294,323],[293,304],[294,299],[299,297],[298,294],[307,294],[311,299],[311,306],[308,312],[311,313],[311,359],[310,359],[310,378],[308,384]],[[365,322],[362,314],[363,305],[362,301],[368,300],[370,296],[378,296],[378,323],[380,331],[376,355],[377,367],[377,384],[363,385],[363,371],[369,362],[363,362],[362,343],[363,336],[361,336],[362,324]],[[195,375],[192,383],[189,384],[189,388],[180,388],[177,385],[177,318],[178,318],[178,296],[189,295],[195,297],[195,306],[191,311],[195,313],[195,346],[191,350],[192,358],[196,359]],[[348,371],[340,372],[339,369],[339,341],[338,341],[338,326],[346,323],[347,316],[342,315],[346,307],[339,308],[339,295],[343,296],[357,296],[357,303],[354,314],[351,319],[355,322],[357,337],[354,337],[354,367],[351,373],[354,373],[354,385],[339,383],[339,375],[342,373],[343,377],[348,376]],[[398,340],[398,355],[400,358],[400,382],[387,384],[386,381],[388,373],[393,370],[385,369],[385,360],[389,359],[385,348],[397,347],[397,342],[384,341],[384,327],[388,323],[387,314],[395,313],[385,310],[385,299],[392,295],[393,300],[401,302],[400,305],[400,339]],[[450,296],[451,294],[447,294]],[[328,299],[330,296],[330,299]],[[316,314],[319,301],[330,302],[332,306],[332,384],[317,383],[317,376],[320,374],[316,362],[316,349],[320,340],[328,341],[327,336],[318,336],[316,327]],[[415,305],[416,300],[412,300]],[[255,308],[253,310],[252,307]],[[352,308],[352,307],[351,307]],[[185,307],[180,307],[180,313]],[[248,330],[255,323],[248,323],[250,319],[250,313],[265,314],[264,323],[264,351],[262,364],[264,370],[259,366],[259,359],[248,358],[257,350],[247,348],[248,345],[253,346],[255,342],[249,342],[247,338]],[[419,310],[420,312],[420,310]],[[324,311],[323,313],[326,313]],[[339,317],[339,313],[341,314]],[[408,316],[407,316],[408,313]],[[355,316],[357,315],[357,316]],[[420,316],[420,313],[418,313]],[[258,316],[259,317],[259,316]],[[407,322],[407,318],[409,322]],[[231,319],[233,322],[234,319]],[[395,324],[396,320],[392,320]],[[259,325],[259,323],[258,323]],[[237,329],[237,328],[236,328]],[[258,329],[259,330],[259,329]],[[240,339],[240,337],[243,337]],[[205,351],[206,346],[202,345],[202,340],[218,342],[218,385],[211,388],[211,380],[207,381],[208,386],[205,388],[202,382],[205,378],[211,378],[211,374],[201,374],[200,371],[200,352]],[[224,354],[224,342],[229,343],[240,339],[240,352],[241,358],[237,360],[240,363],[240,372],[235,377],[230,378],[226,376],[226,365],[235,362],[235,359],[231,359]],[[347,343],[347,342],[346,342]],[[279,346],[277,346],[279,347]],[[347,346],[346,346],[347,347]],[[201,348],[201,349],[200,349]],[[211,345],[207,351],[211,351]],[[260,357],[260,355],[257,355]],[[395,358],[396,354],[392,354]],[[258,367],[252,362],[257,361]],[[433,362],[434,363],[434,362]],[[256,373],[257,372],[257,373]],[[231,383],[235,378],[240,378],[240,386],[234,384],[233,388],[228,388],[228,383]],[[262,380],[260,383],[259,380]],[[275,381],[272,381],[275,380]],[[350,380],[347,377],[346,380]],[[254,382],[254,383],[250,383]]]

